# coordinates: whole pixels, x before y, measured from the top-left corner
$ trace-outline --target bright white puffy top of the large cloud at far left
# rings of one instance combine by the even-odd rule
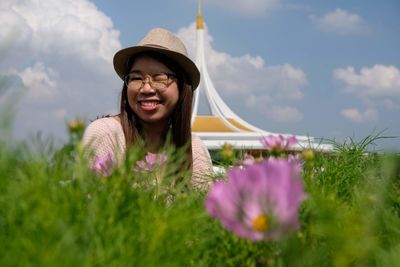
[[[88,0],[25,0],[2,11],[35,53],[111,62],[110,56],[120,48],[112,21]]]

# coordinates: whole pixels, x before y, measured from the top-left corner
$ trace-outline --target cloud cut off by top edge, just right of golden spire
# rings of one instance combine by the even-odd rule
[[[244,16],[263,15],[276,8],[281,0],[206,0],[207,4]]]

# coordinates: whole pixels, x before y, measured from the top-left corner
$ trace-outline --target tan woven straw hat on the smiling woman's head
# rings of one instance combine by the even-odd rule
[[[195,90],[200,82],[200,72],[196,64],[188,57],[182,41],[166,29],[154,28],[136,45],[119,50],[114,55],[114,69],[121,79],[126,75],[128,60],[144,51],[155,51],[174,60],[189,77]]]

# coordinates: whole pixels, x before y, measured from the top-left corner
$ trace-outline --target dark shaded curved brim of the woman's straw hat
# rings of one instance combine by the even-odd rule
[[[169,58],[171,58],[173,61],[175,61],[181,68],[182,70],[187,74],[188,78],[191,81],[192,84],[192,89],[195,90],[197,86],[200,83],[200,72],[199,69],[197,68],[196,64],[186,57],[185,55],[181,53],[177,53],[174,51],[171,51],[169,49],[163,48],[163,47],[153,47],[153,46],[132,46],[128,48],[124,48],[120,51],[118,51],[114,55],[114,69],[117,72],[118,76],[123,80],[124,75],[126,75],[126,63],[127,61],[134,55],[141,53],[141,52],[146,52],[146,51],[154,51],[158,52],[160,54],[163,54]]]

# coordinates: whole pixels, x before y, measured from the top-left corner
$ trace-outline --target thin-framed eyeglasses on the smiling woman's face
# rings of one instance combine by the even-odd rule
[[[151,88],[159,91],[165,91],[177,80],[176,75],[173,73],[156,73],[143,76],[139,72],[131,72],[124,77],[124,82],[127,87],[133,90],[139,90],[144,86],[147,78]]]

